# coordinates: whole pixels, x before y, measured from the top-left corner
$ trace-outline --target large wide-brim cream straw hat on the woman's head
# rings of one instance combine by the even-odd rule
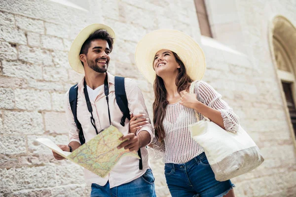
[[[151,84],[156,76],[154,57],[162,49],[173,51],[180,57],[191,79],[202,79],[206,70],[205,55],[193,38],[177,30],[155,30],[139,41],[135,53],[137,67]]]

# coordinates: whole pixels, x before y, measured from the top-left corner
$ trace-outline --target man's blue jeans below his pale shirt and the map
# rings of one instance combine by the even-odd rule
[[[90,197],[156,197],[152,170],[143,176],[110,189],[109,181],[105,186],[91,185]]]

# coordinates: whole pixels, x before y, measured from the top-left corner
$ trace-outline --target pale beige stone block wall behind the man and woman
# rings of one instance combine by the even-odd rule
[[[56,143],[68,142],[63,97],[82,77],[69,66],[68,51],[75,35],[94,22],[116,32],[109,70],[138,81],[150,116],[152,87],[134,61],[139,39],[155,29],[173,28],[202,44],[208,67],[204,80],[234,108],[266,159],[259,168],[232,180],[236,196],[294,196],[296,151],[267,39],[275,14],[296,24],[294,2],[236,0],[230,11],[237,14],[232,22],[241,29],[234,37],[244,38],[237,40],[237,47],[225,32],[224,45],[201,38],[193,0],[89,0],[89,11],[50,0],[0,1],[0,196],[89,196],[82,168],[54,160],[35,139],[46,136]],[[213,13],[217,12],[209,11]],[[231,22],[227,17],[215,24]],[[227,46],[242,48],[244,54]],[[151,165],[158,197],[170,196],[162,162]]]

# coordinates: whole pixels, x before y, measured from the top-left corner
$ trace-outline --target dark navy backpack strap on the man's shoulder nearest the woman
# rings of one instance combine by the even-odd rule
[[[131,119],[125,93],[124,77],[115,76],[115,99],[120,111],[123,113],[123,116],[120,120],[120,125],[124,127],[125,119]],[[143,169],[141,149],[138,150],[138,155],[140,157],[139,169]]]

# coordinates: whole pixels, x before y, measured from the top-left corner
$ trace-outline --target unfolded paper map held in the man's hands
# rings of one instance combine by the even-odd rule
[[[123,134],[116,127],[110,126],[72,153],[62,151],[50,139],[37,138],[36,140],[68,160],[85,167],[100,177],[105,177],[121,157],[132,156],[140,159],[136,152],[129,152],[124,148],[117,149],[117,146],[123,142],[119,140],[122,136]]]

